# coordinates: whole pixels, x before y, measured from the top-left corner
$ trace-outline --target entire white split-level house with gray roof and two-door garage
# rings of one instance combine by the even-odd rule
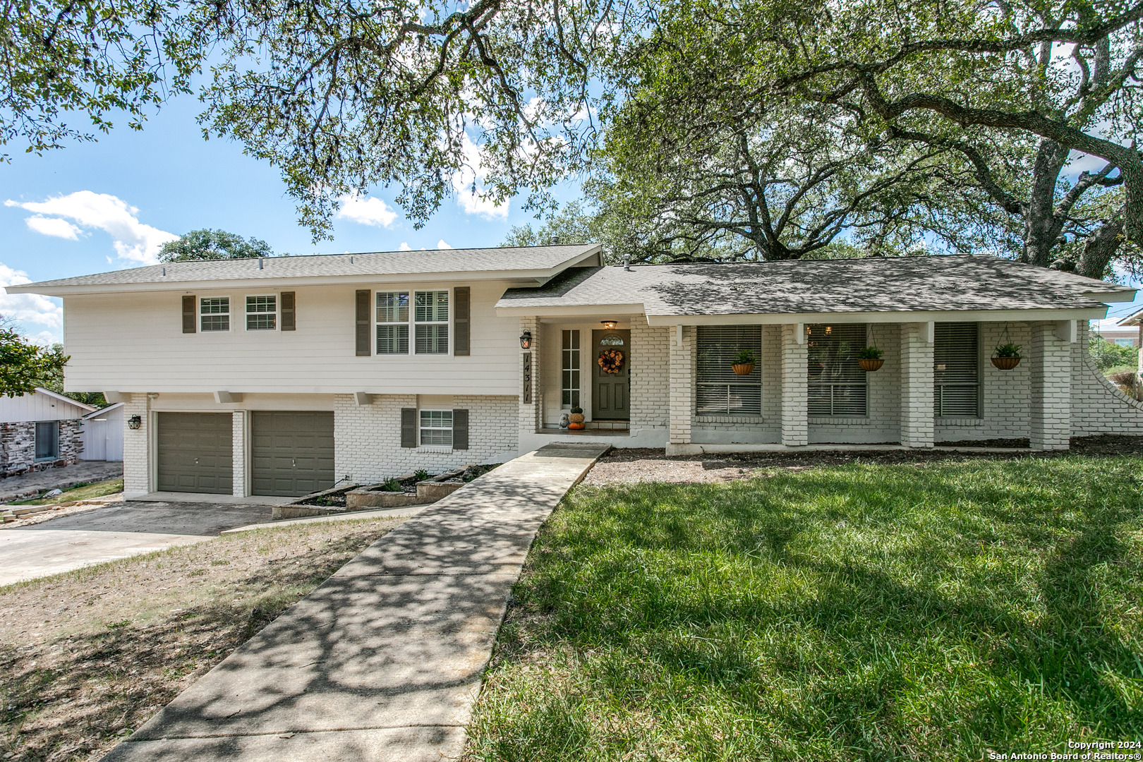
[[[1063,449],[1143,433],[1143,407],[1086,351],[1088,321],[1134,289],[991,256],[625,268],[596,246],[450,249],[8,291],[63,297],[67,388],[123,402],[128,495],[302,495],[558,441]],[[1001,343],[1023,347],[1013,370],[990,362]],[[874,372],[857,366],[868,344]],[[742,351],[756,363],[738,375]],[[559,428],[577,404],[588,428]]]

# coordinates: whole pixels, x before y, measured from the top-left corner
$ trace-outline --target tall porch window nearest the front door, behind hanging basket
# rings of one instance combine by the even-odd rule
[[[762,412],[761,326],[700,326],[695,379],[698,415],[749,415]],[[756,358],[754,369],[740,376],[734,359],[740,352]]]

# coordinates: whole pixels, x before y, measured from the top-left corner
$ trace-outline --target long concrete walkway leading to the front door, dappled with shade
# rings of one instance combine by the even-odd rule
[[[505,463],[370,545],[104,760],[440,762],[555,504],[608,449]]]

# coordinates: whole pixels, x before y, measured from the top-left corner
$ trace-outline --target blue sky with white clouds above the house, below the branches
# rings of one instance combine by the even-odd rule
[[[314,246],[277,170],[237,144],[203,141],[198,111],[194,98],[183,97],[143,131],[115,129],[96,143],[42,157],[14,153],[0,165],[0,286],[146,264],[163,241],[200,227],[254,235],[277,252],[329,254],[496,246],[513,225],[533,222],[520,202],[496,209],[461,193],[417,231],[394,208],[395,193],[375,189],[346,204],[333,241]],[[568,187],[560,195],[576,193]],[[1143,298],[1112,305],[1111,314],[1140,306]],[[0,295],[0,314],[41,343],[62,337],[58,299]]]

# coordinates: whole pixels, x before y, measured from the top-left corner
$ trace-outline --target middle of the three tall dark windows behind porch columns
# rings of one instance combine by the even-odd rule
[[[865,346],[865,323],[806,326],[806,338],[807,412],[865,416],[865,371],[857,364],[857,352]]]

